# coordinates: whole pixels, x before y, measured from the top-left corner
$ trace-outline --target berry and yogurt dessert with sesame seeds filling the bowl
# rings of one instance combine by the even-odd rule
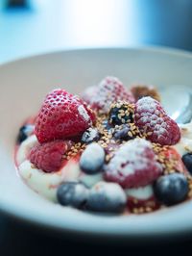
[[[106,77],[81,97],[49,92],[19,130],[15,165],[61,206],[150,213],[192,198],[191,131],[166,114],[156,88]]]

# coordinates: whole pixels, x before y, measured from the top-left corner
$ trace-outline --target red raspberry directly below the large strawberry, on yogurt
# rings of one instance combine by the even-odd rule
[[[45,172],[57,171],[62,166],[62,156],[72,146],[72,141],[51,141],[34,146],[29,160],[37,168]]]

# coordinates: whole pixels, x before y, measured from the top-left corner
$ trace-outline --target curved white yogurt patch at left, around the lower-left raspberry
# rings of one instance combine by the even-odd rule
[[[30,136],[26,141],[23,141],[16,154],[16,162],[18,172],[22,179],[35,192],[43,195],[51,201],[57,201],[57,188],[64,181],[82,181],[88,188],[91,188],[99,181],[103,180],[102,173],[87,175],[81,171],[79,166],[79,158],[73,157],[67,161],[66,165],[61,167],[56,172],[44,172],[36,168],[27,159],[31,148],[37,144],[36,136]]]

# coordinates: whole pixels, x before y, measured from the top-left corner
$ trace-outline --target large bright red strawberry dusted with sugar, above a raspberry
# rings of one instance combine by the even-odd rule
[[[81,99],[65,90],[53,90],[46,96],[36,118],[36,138],[42,143],[78,137],[94,121],[94,113]]]

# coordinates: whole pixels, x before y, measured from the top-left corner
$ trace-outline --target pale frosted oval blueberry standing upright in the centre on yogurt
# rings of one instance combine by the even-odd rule
[[[80,167],[87,174],[95,174],[102,170],[105,161],[105,151],[98,143],[91,143],[85,148]]]

